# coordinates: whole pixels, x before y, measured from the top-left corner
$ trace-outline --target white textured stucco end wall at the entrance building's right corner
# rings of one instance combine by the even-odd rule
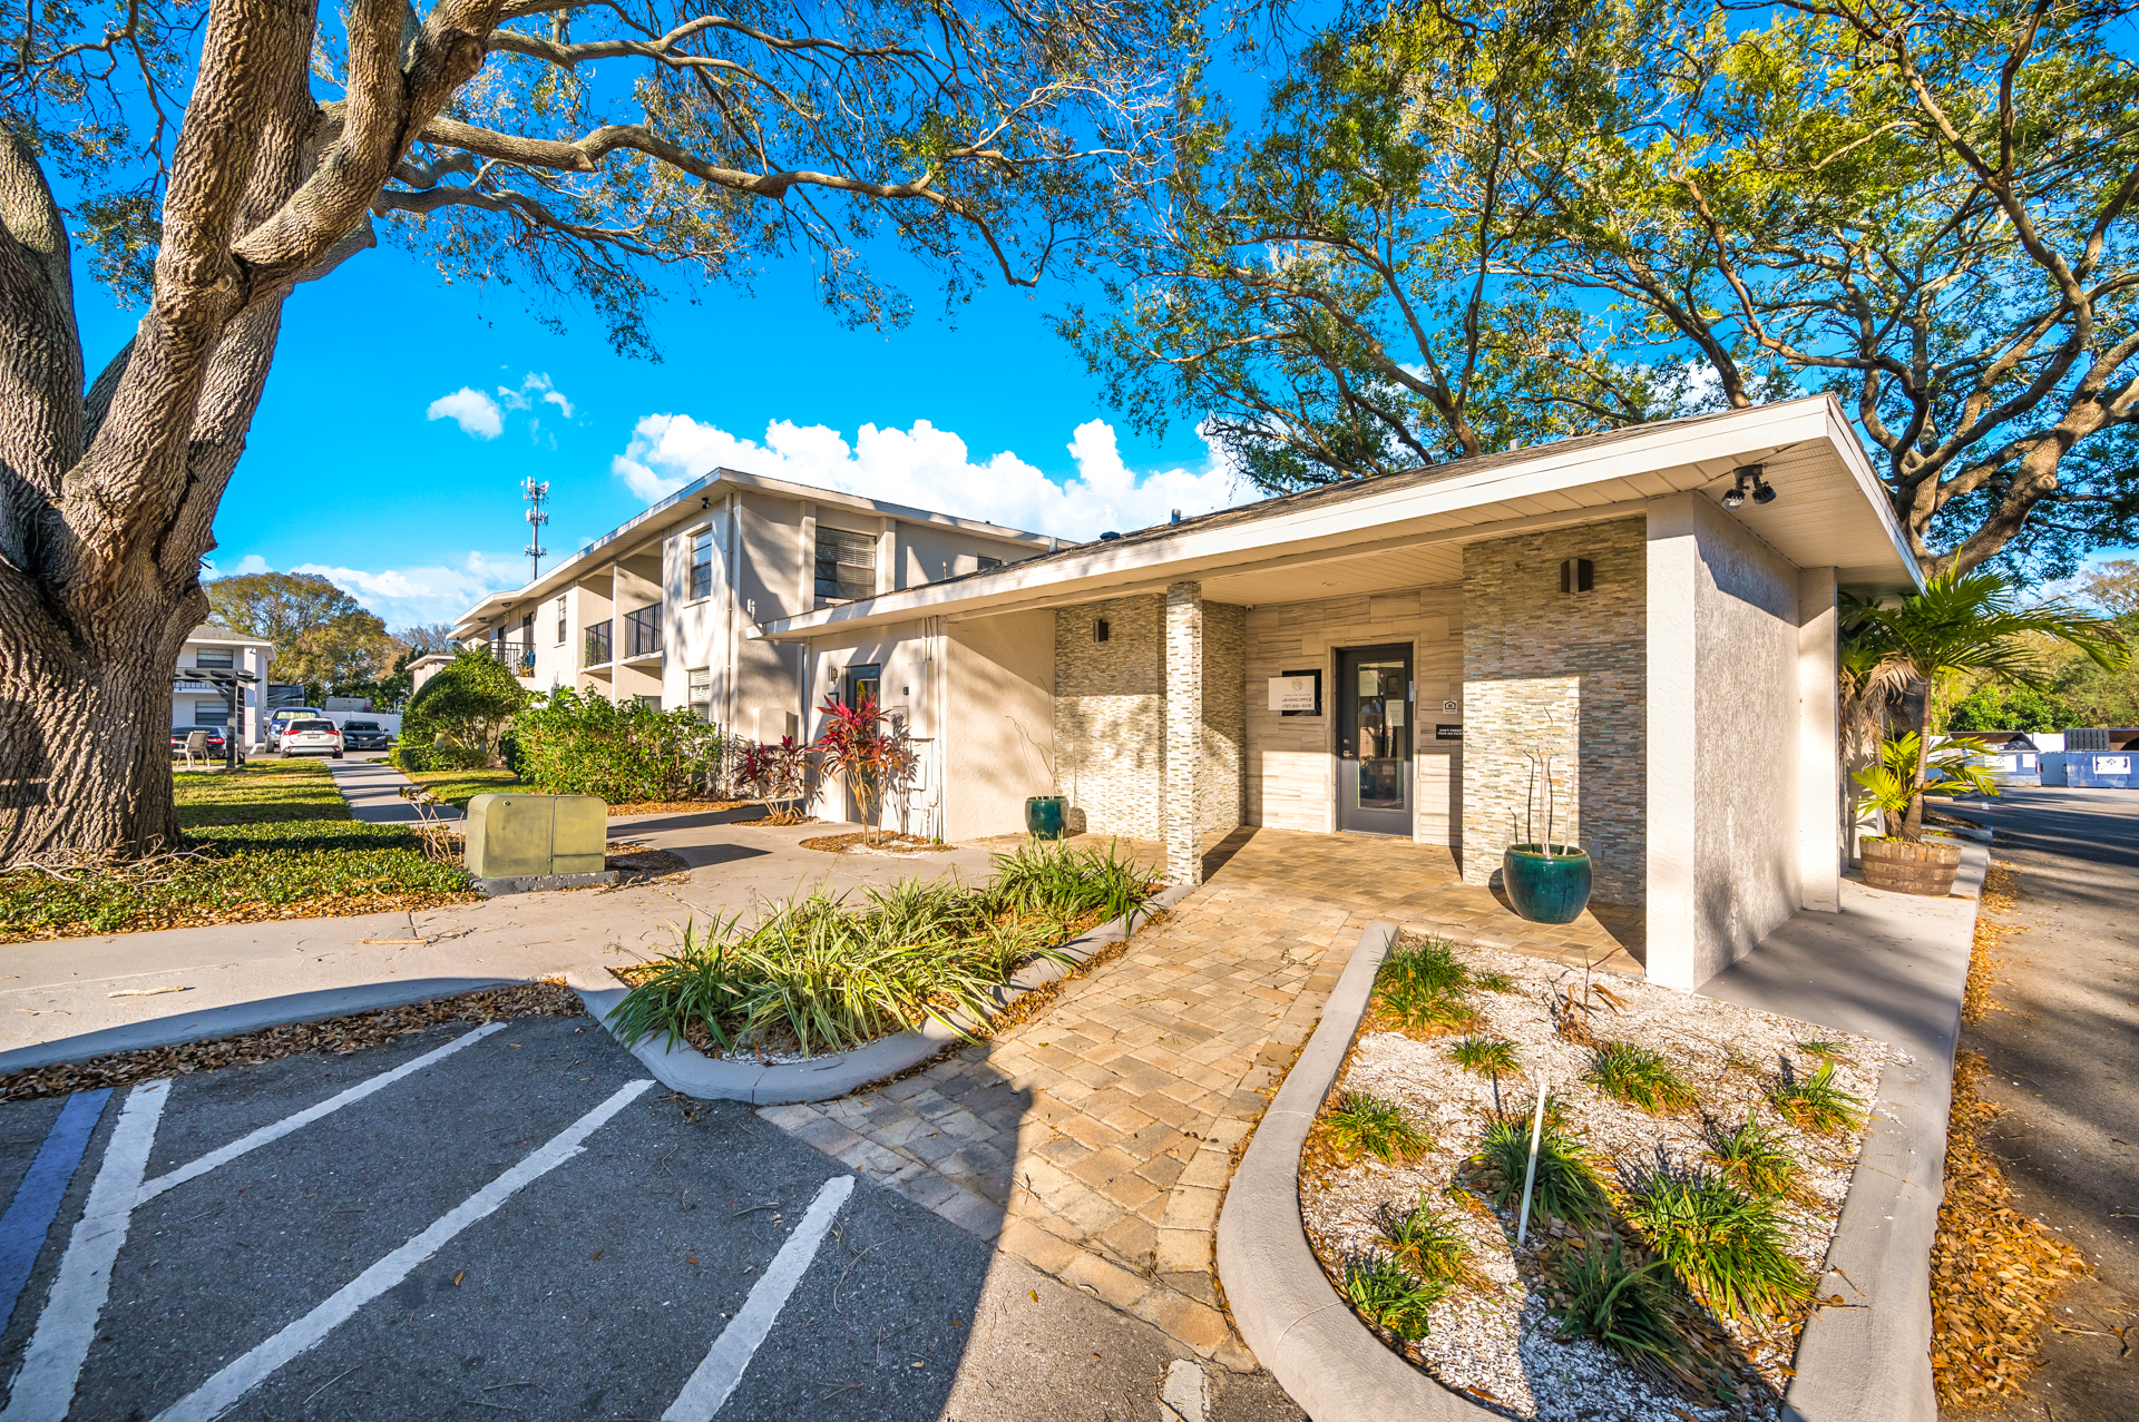
[[[1647,967],[1692,990],[1803,902],[1799,575],[1696,494],[1653,505],[1647,560],[1656,716],[1686,723],[1651,778]]]

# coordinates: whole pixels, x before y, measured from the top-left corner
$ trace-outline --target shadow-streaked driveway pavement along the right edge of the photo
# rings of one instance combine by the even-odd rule
[[[2011,789],[1955,806],[1998,830],[2019,877],[1991,1011],[1961,1046],[1991,1063],[2013,1202],[2098,1266],[2058,1298],[2028,1396],[1985,1422],[2139,1416],[2139,791]],[[2071,1332],[2066,1332],[2071,1330]]]

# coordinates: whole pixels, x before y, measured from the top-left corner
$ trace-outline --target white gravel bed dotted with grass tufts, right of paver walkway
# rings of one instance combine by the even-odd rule
[[[1301,1217],[1388,1347],[1504,1416],[1780,1418],[1884,1061],[1773,1014],[1405,939],[1309,1135]]]

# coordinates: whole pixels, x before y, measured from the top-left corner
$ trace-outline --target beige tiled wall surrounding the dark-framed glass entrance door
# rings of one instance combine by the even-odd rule
[[[1354,646],[1410,646],[1414,706],[1412,838],[1452,845],[1461,828],[1461,740],[1437,740],[1435,725],[1461,725],[1444,701],[1463,697],[1463,590],[1455,584],[1392,588],[1313,603],[1247,609],[1247,772],[1245,819],[1273,830],[1337,830],[1337,652]],[[1271,710],[1268,678],[1322,674],[1322,714]]]

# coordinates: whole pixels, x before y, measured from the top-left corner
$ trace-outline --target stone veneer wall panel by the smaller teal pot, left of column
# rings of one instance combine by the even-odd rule
[[[1055,614],[1055,774],[1072,830],[1164,838],[1166,599],[1119,597]],[[1093,624],[1108,639],[1093,642]]]

